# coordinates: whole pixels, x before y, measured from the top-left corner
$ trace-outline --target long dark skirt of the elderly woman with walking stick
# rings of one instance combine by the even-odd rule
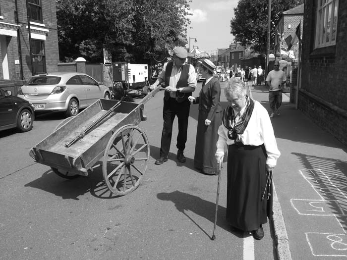
[[[244,231],[256,230],[272,214],[267,201],[266,150],[261,146],[231,145],[228,150],[227,220]]]

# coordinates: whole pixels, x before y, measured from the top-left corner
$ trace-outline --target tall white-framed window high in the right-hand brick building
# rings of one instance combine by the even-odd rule
[[[318,0],[315,48],[336,44],[339,0]]]

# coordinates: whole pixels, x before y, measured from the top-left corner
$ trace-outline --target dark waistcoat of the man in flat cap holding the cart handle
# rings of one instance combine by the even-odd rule
[[[189,66],[190,66],[190,64],[184,64],[182,66],[181,75],[179,77],[177,85],[175,86],[176,89],[184,88],[184,87],[188,86]],[[173,70],[173,61],[170,61],[170,62],[168,62],[168,65],[166,66],[166,71],[165,71],[165,86],[166,87],[169,86],[170,76],[171,76],[172,70]],[[178,103],[181,103],[181,102],[183,102],[185,100],[188,100],[188,97],[191,96],[191,95],[192,95],[191,92],[188,92],[188,93],[176,93],[176,101]],[[168,101],[170,99],[170,93],[168,91],[165,91],[164,99],[166,101]]]

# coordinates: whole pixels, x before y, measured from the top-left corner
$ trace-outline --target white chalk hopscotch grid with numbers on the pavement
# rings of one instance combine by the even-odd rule
[[[333,217],[344,234],[306,232],[306,241],[314,256],[347,257],[347,195],[337,174],[326,169],[301,169],[301,176],[315,192],[314,199],[291,199],[300,215]]]

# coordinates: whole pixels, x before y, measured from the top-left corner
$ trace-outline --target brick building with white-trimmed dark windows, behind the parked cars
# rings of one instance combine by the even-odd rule
[[[0,0],[0,50],[0,79],[28,80],[57,71],[56,1]]]

